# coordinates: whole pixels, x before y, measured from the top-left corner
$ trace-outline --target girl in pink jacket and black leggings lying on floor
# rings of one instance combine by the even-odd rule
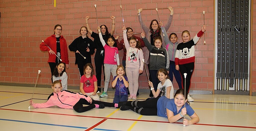
[[[118,107],[118,104],[108,103],[103,101],[92,100],[87,95],[74,93],[68,90],[63,90],[61,82],[59,80],[54,81],[53,85],[53,95],[44,103],[34,103],[31,99],[29,104],[34,108],[46,108],[57,105],[65,109],[74,109],[76,112],[86,112],[93,108],[104,108],[106,107]],[[83,106],[87,104],[88,106]]]

